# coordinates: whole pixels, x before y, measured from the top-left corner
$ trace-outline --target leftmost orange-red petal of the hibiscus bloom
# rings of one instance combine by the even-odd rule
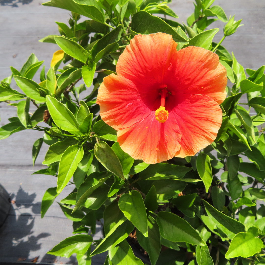
[[[111,74],[99,87],[97,103],[101,119],[115,130],[133,126],[160,104],[156,94],[139,93],[133,82]],[[148,101],[148,102],[147,102]],[[146,104],[145,104],[146,103]]]

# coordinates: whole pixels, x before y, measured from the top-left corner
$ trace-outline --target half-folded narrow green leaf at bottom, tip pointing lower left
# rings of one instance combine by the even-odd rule
[[[117,244],[125,240],[126,237],[133,231],[133,229],[134,225],[129,220],[126,220],[125,217],[123,217],[108,232],[100,244],[91,253],[91,256],[114,248]]]

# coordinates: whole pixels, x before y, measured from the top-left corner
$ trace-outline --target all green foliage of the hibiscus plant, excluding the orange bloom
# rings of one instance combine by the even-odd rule
[[[265,66],[245,73],[221,46],[241,20],[228,20],[221,7],[213,6],[214,0],[196,0],[187,25],[175,21],[178,16],[169,3],[44,3],[72,11],[69,25],[56,22],[61,36],[40,40],[60,47],[50,68],[43,67],[37,81],[43,61],[32,54],[1,81],[0,100],[16,107],[17,117],[0,129],[0,139],[21,130],[43,131],[33,145],[33,164],[43,142],[50,145],[43,161],[47,168],[35,173],[57,178],[57,187],[43,196],[42,217],[64,187],[73,185],[60,207],[73,220],[77,235],[50,254],[76,253],[81,265],[108,251],[105,264],[143,264],[128,244],[130,235],[152,265],[265,263],[265,208],[259,204],[265,199]],[[228,22],[218,44],[212,42],[218,29],[206,30],[215,20]],[[178,49],[193,45],[215,51],[232,85],[221,104],[223,122],[214,143],[193,157],[148,165],[120,148],[116,131],[101,120],[95,102],[100,83],[115,73],[130,39],[156,32],[173,35]],[[17,90],[11,88],[13,77]],[[36,111],[29,113],[32,104]],[[93,241],[99,219],[104,220],[104,238]]]

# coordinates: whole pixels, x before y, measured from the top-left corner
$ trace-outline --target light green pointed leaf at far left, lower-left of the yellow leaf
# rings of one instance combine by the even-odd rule
[[[22,76],[14,76],[17,85],[21,90],[29,97],[38,102],[45,102],[46,99],[39,94],[39,89],[43,89],[42,86],[38,85],[33,80]]]

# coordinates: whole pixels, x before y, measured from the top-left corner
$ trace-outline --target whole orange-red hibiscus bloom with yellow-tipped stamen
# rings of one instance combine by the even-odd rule
[[[121,148],[154,164],[193,156],[211,144],[222,123],[226,69],[218,55],[171,35],[136,35],[116,71],[104,78],[97,103],[102,120],[117,130]]]

